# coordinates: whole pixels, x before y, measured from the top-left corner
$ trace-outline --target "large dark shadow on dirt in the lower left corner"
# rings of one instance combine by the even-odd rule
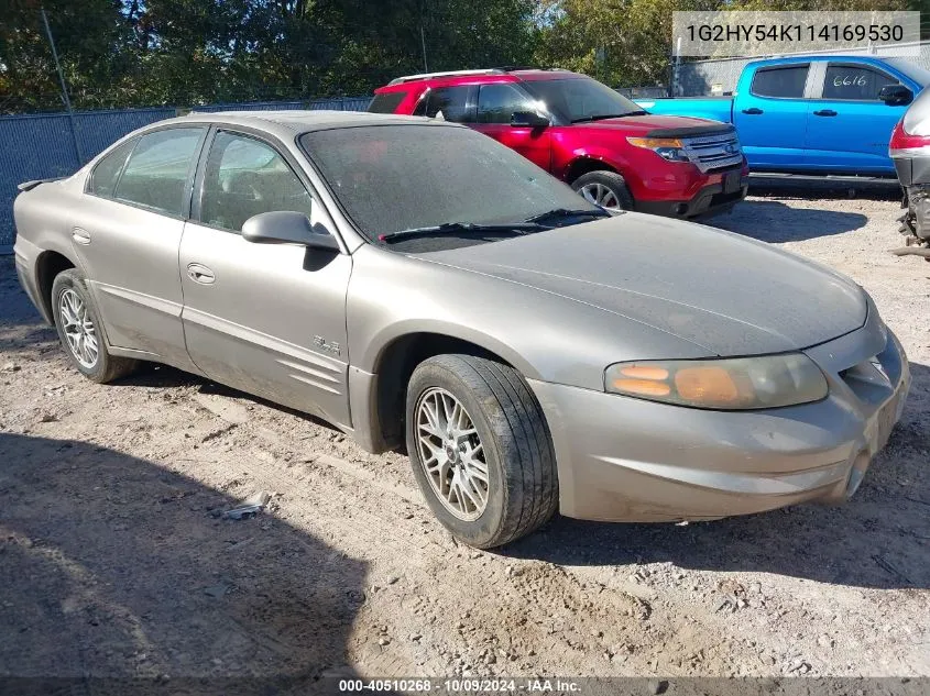
[[[0,452],[0,675],[304,694],[351,674],[365,564],[273,516],[218,519],[238,501],[142,459],[8,433]]]

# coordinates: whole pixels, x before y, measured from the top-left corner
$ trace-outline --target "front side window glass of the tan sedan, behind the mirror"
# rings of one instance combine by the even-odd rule
[[[310,195],[284,158],[247,135],[219,131],[204,173],[200,221],[238,232],[252,216],[293,210],[310,217]]]

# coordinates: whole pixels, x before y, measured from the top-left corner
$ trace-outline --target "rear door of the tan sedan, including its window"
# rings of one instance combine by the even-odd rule
[[[112,346],[194,369],[180,323],[177,252],[206,126],[127,141],[95,165],[72,239]]]

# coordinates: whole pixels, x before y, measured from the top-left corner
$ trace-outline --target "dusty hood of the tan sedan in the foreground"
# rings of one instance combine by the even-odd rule
[[[854,331],[867,313],[862,289],[825,267],[737,234],[638,213],[415,256],[648,324],[707,355],[805,349]],[[506,301],[500,288],[480,291]]]

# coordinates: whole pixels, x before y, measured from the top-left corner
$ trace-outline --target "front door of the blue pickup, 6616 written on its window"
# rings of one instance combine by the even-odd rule
[[[878,98],[889,73],[852,60],[819,65],[819,89],[808,106],[807,151],[818,168],[850,174],[894,174],[888,141],[906,106]]]

